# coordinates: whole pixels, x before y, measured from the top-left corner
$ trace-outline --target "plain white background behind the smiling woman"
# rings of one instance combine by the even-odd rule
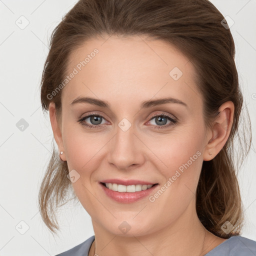
[[[231,26],[236,66],[244,101],[256,131],[256,0],[211,0]],[[0,0],[0,255],[55,255],[94,234],[90,216],[80,203],[61,208],[61,233],[53,238],[38,212],[38,189],[51,155],[52,130],[42,114],[39,82],[48,53],[49,37],[76,0]],[[29,24],[15,21],[24,15]],[[255,94],[254,94],[255,95]],[[28,127],[16,123],[24,118]],[[245,209],[242,235],[256,240],[255,148],[238,176]],[[25,221],[20,234],[15,226]],[[23,225],[24,226],[24,225]]]

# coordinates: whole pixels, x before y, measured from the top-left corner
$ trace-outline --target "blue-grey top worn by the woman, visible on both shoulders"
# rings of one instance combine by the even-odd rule
[[[89,248],[94,241],[92,235],[84,242],[55,256],[88,256]],[[256,241],[237,235],[231,236],[204,256],[256,256]]]

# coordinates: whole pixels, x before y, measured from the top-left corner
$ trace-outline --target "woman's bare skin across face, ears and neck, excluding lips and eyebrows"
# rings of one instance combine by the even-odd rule
[[[225,239],[208,232],[199,221],[196,186],[203,160],[212,159],[229,136],[234,105],[223,103],[216,123],[206,128],[195,69],[181,52],[142,36],[107,38],[91,39],[72,52],[70,72],[94,48],[99,50],[62,89],[61,123],[56,121],[54,103],[49,106],[61,159],[67,161],[69,171],[75,169],[80,175],[72,186],[91,216],[95,251],[91,246],[90,255],[204,255]],[[169,75],[175,66],[183,72],[176,81]],[[107,101],[110,108],[70,105],[77,96]],[[140,109],[144,100],[167,96],[188,107],[165,103]],[[77,121],[91,111],[103,116],[101,127],[90,129]],[[167,120],[165,128],[154,129],[164,126],[152,117],[154,113],[178,121],[167,126],[171,122]],[[131,124],[125,132],[118,126],[123,118]],[[84,122],[98,125],[90,118]],[[146,196],[138,202],[118,203],[99,187],[100,180],[116,177],[161,186],[196,151],[200,156],[154,202]],[[123,221],[131,227],[126,233],[118,228]]]

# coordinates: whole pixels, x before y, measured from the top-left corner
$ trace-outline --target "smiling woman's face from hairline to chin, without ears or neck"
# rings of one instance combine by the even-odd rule
[[[205,133],[195,70],[184,55],[161,40],[106,38],[85,42],[69,57],[67,73],[77,73],[62,88],[61,158],[97,228],[149,234],[194,212],[211,136]],[[175,100],[145,103],[162,98]],[[124,196],[100,183],[107,179],[156,185]]]

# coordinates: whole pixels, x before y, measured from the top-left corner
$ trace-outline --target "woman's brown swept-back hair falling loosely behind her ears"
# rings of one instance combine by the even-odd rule
[[[234,61],[235,45],[229,27],[221,20],[225,21],[224,17],[208,0],[79,0],[53,29],[40,97],[44,113],[50,102],[55,103],[60,122],[61,90],[54,97],[47,95],[63,81],[72,52],[91,38],[146,35],[176,47],[195,67],[205,127],[213,127],[222,103],[231,100],[234,104],[228,139],[213,159],[203,161],[196,188],[196,212],[201,223],[214,235],[229,238],[240,234],[244,219],[236,175],[250,149],[251,123],[248,116],[241,136],[238,127],[243,96]],[[234,155],[236,138],[239,156]],[[67,163],[59,160],[53,144],[38,194],[40,214],[53,233],[59,229],[55,210],[63,205],[61,201],[68,201],[67,192],[72,191],[71,199],[77,199],[67,174]],[[226,221],[233,225],[229,233],[221,229]]]

